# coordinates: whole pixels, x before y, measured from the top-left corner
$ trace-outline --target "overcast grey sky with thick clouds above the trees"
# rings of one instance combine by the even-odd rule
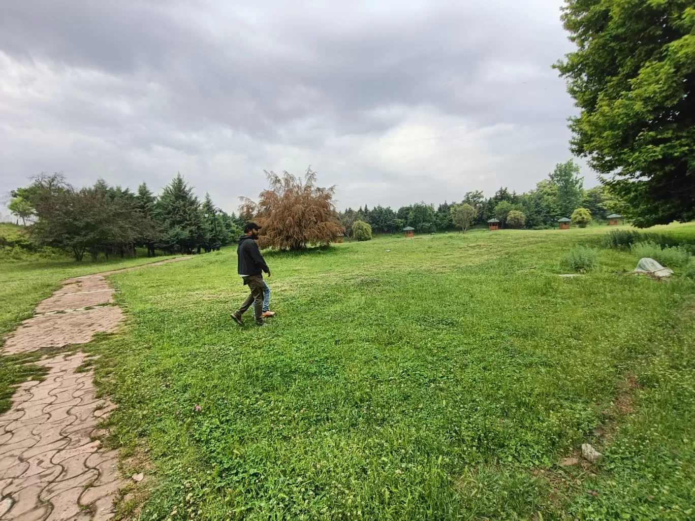
[[[561,5],[3,0],[0,192],[181,172],[234,210],[308,165],[339,208],[523,192],[571,158]]]

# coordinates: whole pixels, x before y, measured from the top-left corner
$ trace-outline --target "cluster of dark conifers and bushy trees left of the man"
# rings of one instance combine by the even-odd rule
[[[63,174],[40,174],[31,185],[10,192],[15,215],[33,222],[31,238],[38,245],[68,251],[76,261],[85,254],[134,256],[137,247],[148,256],[212,251],[236,241],[245,220],[216,207],[209,194],[203,201],[178,174],[154,195],[146,183],[137,192],[111,186],[103,179],[75,188]]]

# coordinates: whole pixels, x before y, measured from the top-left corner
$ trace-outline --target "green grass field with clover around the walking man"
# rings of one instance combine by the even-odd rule
[[[264,329],[229,318],[233,248],[111,276],[129,321],[86,349],[120,404],[111,443],[147,447],[141,518],[692,519],[695,283],[632,276],[638,259],[607,249],[558,276],[606,232],[268,254]],[[99,271],[3,271],[5,330],[69,268]],[[603,463],[562,468],[582,443]]]

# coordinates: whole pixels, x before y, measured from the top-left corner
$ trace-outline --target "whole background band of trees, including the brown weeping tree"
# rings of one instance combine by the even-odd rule
[[[77,261],[85,254],[95,260],[99,256],[134,256],[138,247],[146,248],[148,256],[156,251],[212,251],[234,242],[251,219],[263,225],[262,247],[297,250],[328,245],[343,233],[368,240],[373,231],[393,233],[405,226],[418,233],[452,226],[465,232],[493,218],[502,227],[550,228],[558,217],[571,217],[583,226],[592,218],[604,219],[607,213],[624,208],[603,187],[584,190],[579,167],[572,160],[558,164],[548,179],[523,194],[500,188],[486,198],[477,190],[436,209],[420,202],[396,211],[364,206],[338,212],[335,187],[318,186],[311,168],[304,179],[287,172],[282,176],[265,173],[268,189],[259,194],[257,203],[241,198],[238,215],[216,207],[209,194],[199,201],[180,174],[159,195],[146,183],[136,192],[102,179],[93,186],[75,188],[63,174],[40,174],[28,187],[11,192],[9,206],[24,222],[33,222],[31,237],[36,245],[69,251]]]

